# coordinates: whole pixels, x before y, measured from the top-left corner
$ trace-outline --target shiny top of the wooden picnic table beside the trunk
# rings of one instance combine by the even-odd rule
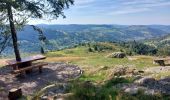
[[[37,60],[43,60],[45,58],[46,58],[46,56],[43,56],[43,55],[35,55],[35,56],[23,58],[21,61],[16,61],[14,59],[8,60],[7,63],[9,65],[17,65],[17,64],[21,64],[21,63],[25,63],[25,62],[33,62],[33,61],[37,61]]]

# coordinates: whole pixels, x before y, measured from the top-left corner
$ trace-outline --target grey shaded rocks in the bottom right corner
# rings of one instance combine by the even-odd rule
[[[146,95],[170,95],[170,77],[160,80],[155,80],[151,77],[142,77],[134,83],[118,84],[116,87],[132,95],[137,94],[139,90],[143,91]]]

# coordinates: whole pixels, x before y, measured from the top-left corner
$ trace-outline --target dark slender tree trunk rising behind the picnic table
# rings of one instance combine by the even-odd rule
[[[8,18],[9,18],[9,23],[10,23],[10,28],[11,28],[11,35],[12,35],[12,40],[13,40],[13,47],[14,47],[14,53],[16,57],[16,61],[21,61],[19,49],[18,49],[18,43],[17,43],[17,33],[13,21],[13,14],[12,14],[12,7],[10,4],[7,4],[7,11],[8,11]]]

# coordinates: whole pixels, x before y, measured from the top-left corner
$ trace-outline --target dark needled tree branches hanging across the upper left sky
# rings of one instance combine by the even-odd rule
[[[0,0],[0,12],[4,12],[10,5],[18,15],[57,18],[59,15],[65,17],[63,10],[73,3],[74,0]]]

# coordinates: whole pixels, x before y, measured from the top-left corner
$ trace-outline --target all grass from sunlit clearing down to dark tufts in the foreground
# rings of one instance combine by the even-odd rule
[[[155,66],[152,63],[153,57],[151,56],[133,56],[130,59],[106,57],[114,51],[117,50],[88,52],[87,47],[80,46],[47,54],[47,61],[76,64],[84,70],[83,75],[71,83],[68,92],[74,95],[69,96],[66,100],[164,100],[168,98],[163,95],[145,95],[143,91],[132,96],[113,88],[116,84],[134,81],[133,77],[114,78],[112,71],[116,66],[131,66],[138,69]],[[87,83],[88,81],[93,84]]]

